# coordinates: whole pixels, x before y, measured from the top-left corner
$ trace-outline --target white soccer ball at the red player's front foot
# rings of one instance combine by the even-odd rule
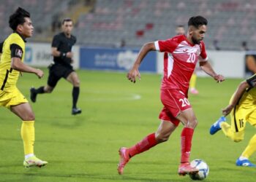
[[[192,178],[192,180],[203,180],[207,177],[207,175],[209,174],[209,167],[206,164],[206,162],[204,162],[202,159],[195,159],[192,162],[190,162],[190,165],[192,167],[197,168],[197,170],[199,170],[198,173],[195,174],[189,174],[190,178]]]

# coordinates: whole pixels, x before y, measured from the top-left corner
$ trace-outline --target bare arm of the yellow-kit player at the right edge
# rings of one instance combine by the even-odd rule
[[[238,100],[241,98],[246,88],[248,87],[250,87],[250,85],[246,81],[243,81],[238,85],[236,92],[233,94],[233,99],[231,100],[231,103],[224,109],[222,109],[222,114],[224,116],[230,114],[230,111],[232,111],[232,109],[236,106],[236,103],[238,103]]]

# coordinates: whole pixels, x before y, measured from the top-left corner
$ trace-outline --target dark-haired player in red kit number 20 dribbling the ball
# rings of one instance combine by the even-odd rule
[[[140,79],[138,68],[148,52],[168,52],[164,56],[164,78],[161,86],[161,101],[164,107],[159,114],[161,123],[157,132],[147,135],[146,138],[130,148],[121,147],[119,149],[118,173],[120,175],[124,172],[124,166],[130,158],[167,141],[179,122],[184,125],[184,129],[181,132],[181,164],[178,167],[178,174],[197,173],[198,170],[191,167],[189,163],[192,136],[197,126],[197,118],[189,104],[187,95],[189,80],[195,70],[198,58],[200,57],[200,67],[206,74],[212,76],[217,82],[225,80],[224,76],[215,73],[207,61],[206,47],[203,43],[207,23],[208,21],[204,17],[190,17],[187,36],[178,35],[165,41],[149,42],[141,48],[127,78],[134,83],[136,77]]]

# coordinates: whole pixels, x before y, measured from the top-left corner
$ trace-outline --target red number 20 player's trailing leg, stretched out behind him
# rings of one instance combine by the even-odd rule
[[[157,132],[153,132],[147,135],[143,140],[136,143],[130,148],[121,147],[119,149],[120,161],[118,163],[118,173],[121,175],[124,172],[124,166],[129,162],[131,157],[136,154],[140,154],[143,151],[147,151],[152,147],[156,146],[158,143],[167,141],[170,134],[176,129],[176,125],[172,122],[162,120]]]

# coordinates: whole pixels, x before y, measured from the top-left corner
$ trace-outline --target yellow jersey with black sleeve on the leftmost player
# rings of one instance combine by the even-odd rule
[[[11,68],[12,58],[25,57],[26,41],[18,33],[12,33],[4,40],[0,58],[0,91],[12,92],[15,89],[20,71]]]

